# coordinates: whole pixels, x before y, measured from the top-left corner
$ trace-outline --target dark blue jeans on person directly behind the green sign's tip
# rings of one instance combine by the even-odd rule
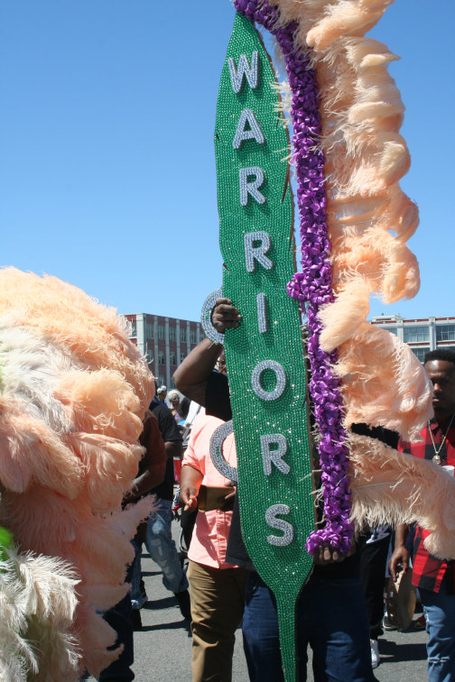
[[[283,682],[274,595],[256,574],[246,585],[244,649],[251,682]],[[312,577],[297,607],[299,682],[307,679],[307,648],[313,651],[316,682],[370,682],[367,607],[359,578]]]

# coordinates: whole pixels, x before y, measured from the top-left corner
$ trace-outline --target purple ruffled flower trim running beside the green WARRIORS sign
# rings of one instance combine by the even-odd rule
[[[279,42],[286,61],[292,89],[293,156],[297,171],[297,202],[302,239],[302,272],[296,272],[287,285],[293,299],[300,300],[308,316],[311,364],[310,392],[320,430],[320,467],[323,485],[324,528],[311,533],[307,551],[315,555],[320,545],[329,543],[341,552],[348,551],[353,535],[349,522],[350,490],[348,448],[341,425],[342,400],[339,380],[330,370],[337,353],[320,348],[321,305],[333,300],[330,241],[326,217],[324,155],[318,148],[320,136],[319,88],[314,69],[306,54],[296,48],[293,34],[296,23],[279,26],[278,10],[265,0],[234,0],[237,11],[260,23]]]

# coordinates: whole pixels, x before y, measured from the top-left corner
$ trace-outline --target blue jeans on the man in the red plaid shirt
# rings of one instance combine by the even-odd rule
[[[419,587],[428,632],[430,682],[455,680],[455,594],[447,594],[446,577],[437,594]]]

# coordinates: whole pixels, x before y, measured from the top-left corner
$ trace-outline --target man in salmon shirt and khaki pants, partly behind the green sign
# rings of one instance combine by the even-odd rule
[[[205,410],[194,420],[181,467],[181,501],[185,509],[196,508],[201,484],[214,487],[230,485],[210,457],[210,438],[224,423],[222,419],[206,415]],[[237,465],[233,433],[223,444],[223,456],[229,465]],[[224,506],[223,500],[220,507]],[[193,682],[211,679],[228,682],[232,677],[235,631],[244,612],[248,571],[226,561],[231,518],[232,511],[199,511],[192,533],[188,579]]]

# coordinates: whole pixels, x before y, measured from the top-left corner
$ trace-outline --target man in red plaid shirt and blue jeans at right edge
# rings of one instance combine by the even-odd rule
[[[398,449],[440,465],[455,466],[455,353],[435,350],[425,355],[425,371],[433,386],[434,418],[421,431],[422,443],[400,441]],[[409,565],[405,548],[407,526],[395,530],[395,551],[389,562]],[[427,654],[430,682],[455,682],[455,580],[453,560],[432,557],[423,546],[430,531],[419,526],[413,543],[413,585],[419,588],[428,631]]]

